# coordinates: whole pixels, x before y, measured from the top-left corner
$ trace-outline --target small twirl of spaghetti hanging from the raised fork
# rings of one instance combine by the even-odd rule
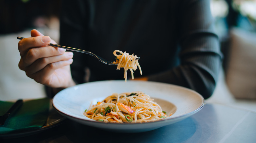
[[[117,52],[120,53],[120,55],[117,55]],[[136,56],[136,55],[134,56],[133,54],[129,55],[129,53],[126,53],[126,52],[123,53],[122,51],[119,51],[119,50],[115,50],[114,55],[117,56],[116,57],[117,60],[116,60],[116,62],[114,62],[115,64],[118,63],[117,70],[120,70],[120,68],[124,68],[125,82],[127,81],[127,71],[128,70],[131,71],[132,79],[134,79],[133,70],[135,71],[137,69],[137,67],[139,67],[140,74],[142,75],[142,71],[139,66],[138,59],[136,60],[136,58],[138,58],[138,56]]]

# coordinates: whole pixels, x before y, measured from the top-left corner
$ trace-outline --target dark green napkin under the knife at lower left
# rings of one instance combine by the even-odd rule
[[[12,102],[0,101],[0,115],[11,107]],[[49,114],[49,98],[25,101],[23,105],[0,125],[0,134],[41,128]]]

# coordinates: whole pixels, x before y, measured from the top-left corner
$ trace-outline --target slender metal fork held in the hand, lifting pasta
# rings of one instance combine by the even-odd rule
[[[25,38],[23,38],[23,37],[17,37],[17,39],[22,40],[22,39],[25,39]],[[95,54],[92,53],[92,52],[89,52],[89,51],[85,51],[85,50],[81,50],[81,49],[76,49],[76,48],[71,48],[71,47],[67,47],[67,46],[61,46],[61,45],[52,44],[52,43],[50,43],[49,46],[58,47],[58,48],[63,48],[63,49],[67,49],[67,50],[70,50],[70,51],[75,51],[75,52],[80,52],[80,53],[89,54],[89,55],[91,55],[91,56],[96,57],[99,61],[101,61],[101,62],[104,63],[104,64],[108,64],[108,65],[117,65],[117,64],[118,64],[118,63],[115,64],[115,63],[113,63],[113,62],[111,62],[111,61],[108,61],[108,60],[106,60],[106,59],[104,59],[104,58],[102,58],[102,57],[100,57],[100,56],[95,55]],[[136,60],[138,60],[138,59],[139,59],[139,57],[136,58]]]

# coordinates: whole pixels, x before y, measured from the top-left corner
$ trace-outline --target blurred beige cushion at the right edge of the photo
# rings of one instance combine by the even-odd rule
[[[256,32],[230,30],[226,84],[236,98],[256,99]]]

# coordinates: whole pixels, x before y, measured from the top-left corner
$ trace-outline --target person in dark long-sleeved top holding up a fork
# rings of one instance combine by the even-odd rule
[[[222,59],[209,6],[209,0],[64,0],[59,44],[110,61],[115,61],[114,50],[137,55],[143,74],[134,71],[135,79],[191,88],[207,99]],[[123,79],[115,66],[50,42],[55,43],[32,30],[18,44],[19,68],[49,94],[85,82]]]

